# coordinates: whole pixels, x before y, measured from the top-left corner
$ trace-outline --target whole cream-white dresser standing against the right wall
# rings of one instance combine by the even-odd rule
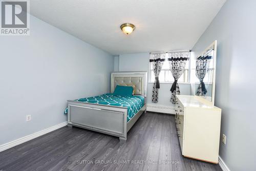
[[[176,97],[175,118],[182,155],[218,163],[221,109],[198,96]]]

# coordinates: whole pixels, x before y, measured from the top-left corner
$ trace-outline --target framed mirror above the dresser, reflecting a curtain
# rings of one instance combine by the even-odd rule
[[[194,62],[191,62],[193,94],[210,101],[212,105],[215,98],[216,50],[217,40],[199,55],[195,55]]]

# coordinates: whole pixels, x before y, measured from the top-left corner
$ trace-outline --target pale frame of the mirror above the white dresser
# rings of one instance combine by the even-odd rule
[[[213,74],[212,74],[212,90],[211,90],[211,101],[209,100],[206,100],[205,98],[201,97],[201,96],[197,96],[195,95],[196,97],[199,97],[201,99],[203,99],[204,101],[208,102],[209,104],[211,103],[212,105],[214,105],[214,102],[215,102],[215,82],[216,82],[216,59],[217,59],[217,40],[215,40],[214,42],[212,42],[202,53],[200,53],[200,55],[198,56],[201,56],[203,55],[204,53],[207,52],[207,50],[211,47],[214,47],[214,69],[213,69]]]

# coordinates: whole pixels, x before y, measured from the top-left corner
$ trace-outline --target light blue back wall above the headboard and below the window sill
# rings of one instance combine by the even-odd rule
[[[149,72],[150,53],[122,54],[119,55],[119,71],[147,71]],[[147,79],[149,80],[149,79]],[[170,83],[160,83],[158,103],[160,105],[174,106],[170,102]],[[190,95],[190,84],[179,84],[183,95]],[[147,103],[152,103],[153,83],[147,83]]]

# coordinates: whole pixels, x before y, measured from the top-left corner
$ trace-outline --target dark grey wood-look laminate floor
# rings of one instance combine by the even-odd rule
[[[98,160],[105,164],[86,163]],[[159,160],[178,163],[159,164]],[[121,161],[126,161],[126,164],[117,163]],[[174,116],[150,112],[143,114],[135,123],[124,144],[120,145],[117,137],[66,126],[1,152],[2,169],[221,170],[217,164],[184,158]]]

